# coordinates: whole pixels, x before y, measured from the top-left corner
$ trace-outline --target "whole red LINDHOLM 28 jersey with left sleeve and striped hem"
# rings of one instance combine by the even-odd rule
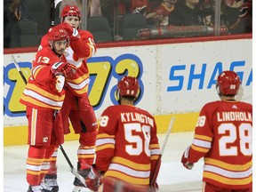
[[[206,104],[200,112],[191,152],[197,157],[206,153],[204,181],[223,188],[250,187],[252,105],[231,100]]]

